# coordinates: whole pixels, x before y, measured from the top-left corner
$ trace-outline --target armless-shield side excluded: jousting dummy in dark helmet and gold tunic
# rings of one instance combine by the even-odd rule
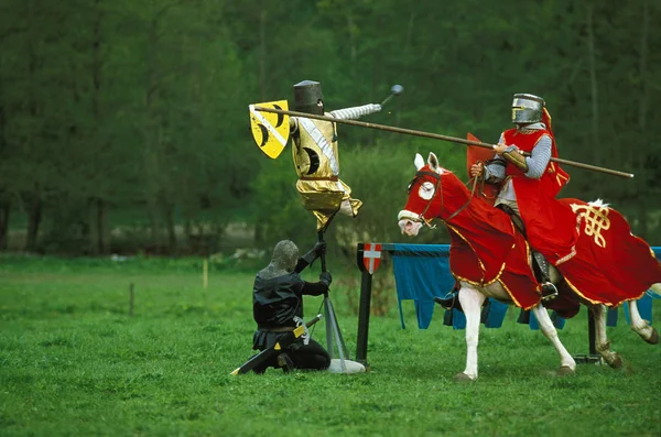
[[[294,109],[299,112],[355,120],[381,110],[380,105],[324,111],[322,84],[303,80],[293,86]],[[324,230],[336,212],[356,217],[362,201],[351,197],[351,188],[339,178],[336,124],[302,117],[290,118],[293,138],[292,154],[299,181],[296,190],[305,209],[317,219],[317,230]]]

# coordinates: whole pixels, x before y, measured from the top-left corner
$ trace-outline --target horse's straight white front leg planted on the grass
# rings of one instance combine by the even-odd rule
[[[479,317],[486,297],[473,285],[462,282],[459,303],[466,315],[466,369],[455,375],[455,381],[477,380],[477,343],[479,339]]]

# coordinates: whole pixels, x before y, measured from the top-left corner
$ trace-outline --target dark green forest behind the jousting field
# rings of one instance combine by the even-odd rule
[[[545,98],[564,197],[603,198],[661,243],[661,3],[652,0],[2,0],[0,250],[215,254],[311,245],[289,149],[256,146],[248,105],[322,83],[327,110],[391,99],[375,123],[496,142],[514,92]],[[654,24],[655,23],[655,24]],[[364,200],[329,250],[403,241],[413,156],[465,178],[465,146],[339,125]],[[418,242],[447,242],[427,232]]]

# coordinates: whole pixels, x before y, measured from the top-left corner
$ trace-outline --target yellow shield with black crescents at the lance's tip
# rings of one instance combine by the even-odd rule
[[[289,140],[289,116],[274,112],[264,112],[254,107],[289,110],[286,100],[268,101],[266,103],[250,105],[250,129],[252,138],[259,149],[271,159],[277,159],[284,150]]]

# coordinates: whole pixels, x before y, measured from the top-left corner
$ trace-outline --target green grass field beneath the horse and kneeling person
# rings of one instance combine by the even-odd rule
[[[457,384],[464,331],[441,310],[419,330],[407,307],[405,330],[395,309],[372,317],[366,374],[230,376],[252,353],[254,272],[212,271],[205,289],[201,265],[0,258],[0,435],[661,435],[661,348],[621,314],[609,336],[622,370],[554,376],[555,351],[510,310],[501,329],[481,330],[479,380]],[[332,293],[353,353],[357,317],[344,303],[358,289]],[[305,302],[307,318],[319,304]],[[560,332],[572,353],[587,352],[586,327],[582,310]]]

